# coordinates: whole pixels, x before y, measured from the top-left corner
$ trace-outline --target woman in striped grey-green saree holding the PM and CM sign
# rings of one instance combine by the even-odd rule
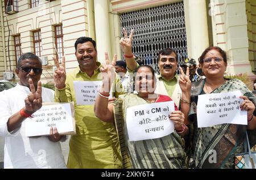
[[[103,84],[105,85],[106,82]],[[138,94],[121,95],[112,104],[108,103],[109,93],[104,91],[103,88],[96,98],[94,112],[104,122],[115,122],[121,146],[123,168],[186,168],[186,155],[181,136],[187,134],[188,127],[183,124],[184,114],[177,110],[177,107],[170,114],[170,120],[174,122],[175,127],[172,134],[156,139],[129,141],[126,126],[127,108],[148,103],[171,101],[168,96],[154,93],[155,75],[152,67],[143,65],[137,68],[135,89]]]

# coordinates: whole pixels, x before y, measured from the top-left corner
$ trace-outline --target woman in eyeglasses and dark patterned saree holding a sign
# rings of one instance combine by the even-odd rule
[[[188,121],[191,128],[191,151],[194,164],[191,168],[234,168],[234,156],[244,152],[243,138],[250,131],[251,145],[255,144],[256,98],[246,85],[238,79],[224,78],[227,66],[226,53],[221,48],[211,46],[199,58],[205,79],[191,85],[191,106]],[[196,107],[199,95],[241,91],[240,108],[247,110],[248,125],[222,124],[211,127],[197,127]],[[214,157],[216,156],[216,157]]]

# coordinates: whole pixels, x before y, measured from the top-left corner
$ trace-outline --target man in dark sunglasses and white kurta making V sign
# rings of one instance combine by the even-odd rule
[[[56,128],[51,128],[48,137],[25,136],[24,120],[31,118],[42,107],[42,102],[54,102],[54,91],[42,87],[39,81],[42,74],[40,58],[33,53],[21,55],[15,72],[19,83],[0,93],[0,136],[5,136],[4,168],[66,168],[59,143],[61,136]]]

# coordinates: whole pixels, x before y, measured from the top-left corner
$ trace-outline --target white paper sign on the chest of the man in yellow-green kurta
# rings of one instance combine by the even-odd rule
[[[76,94],[77,105],[93,105],[98,95],[98,90],[101,88],[102,81],[80,82],[75,81],[74,88]],[[110,91],[110,97],[112,93]]]

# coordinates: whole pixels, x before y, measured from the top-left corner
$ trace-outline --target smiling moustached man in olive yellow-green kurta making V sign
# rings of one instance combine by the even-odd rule
[[[75,102],[76,135],[69,141],[68,168],[122,168],[121,153],[117,133],[113,123],[105,123],[93,112],[93,105],[77,103],[74,81],[101,81],[100,62],[97,62],[96,42],[89,37],[80,37],[75,42],[75,55],[79,67],[65,72],[65,59],[57,66],[55,81],[55,101]],[[113,95],[122,93],[119,79],[114,81]]]

